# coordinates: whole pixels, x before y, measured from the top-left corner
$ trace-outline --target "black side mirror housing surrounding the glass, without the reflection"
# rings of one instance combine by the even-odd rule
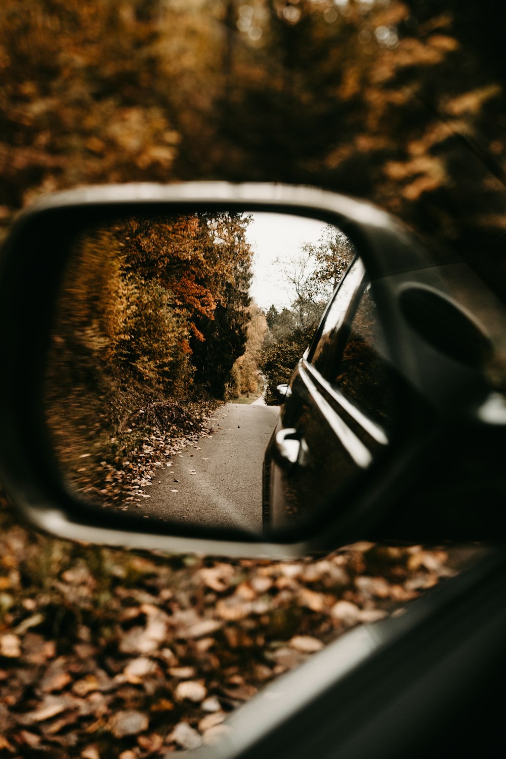
[[[407,389],[398,398],[402,424],[377,463],[364,468],[340,495],[342,508],[337,510],[329,502],[303,528],[287,528],[271,537],[269,531],[252,536],[240,530],[167,521],[153,530],[150,520],[80,502],[61,480],[41,398],[55,294],[68,257],[68,240],[85,222],[141,210],[155,214],[188,209],[290,213],[337,225],[354,244],[372,283],[385,351]],[[494,385],[483,363],[501,353],[504,346],[497,344],[497,338],[494,345],[488,334],[501,330],[489,329],[480,321],[481,314],[460,307],[458,288],[448,285],[446,272],[451,266],[465,265],[454,257],[433,260],[420,241],[375,206],[308,187],[111,185],[39,201],[20,215],[0,258],[0,351],[5,361],[0,376],[4,430],[0,470],[11,502],[36,528],[58,537],[171,553],[289,558],[356,540],[506,537],[501,507],[505,480],[498,455],[506,440],[506,400],[501,379]],[[476,287],[484,285],[479,282]],[[413,288],[438,295],[408,301],[406,293]],[[442,312],[458,312],[455,329],[460,329],[462,320],[472,322],[469,332],[474,342],[480,350],[485,346],[479,354],[474,351],[476,361],[460,361],[464,348],[457,354],[447,352],[444,341],[435,339],[435,298],[440,298],[438,303],[444,301]],[[429,326],[424,323],[426,303],[432,308]],[[499,304],[497,313],[500,310]],[[493,318],[497,320],[497,314]],[[505,329],[502,332],[506,334]],[[498,374],[501,370],[495,371]],[[332,400],[332,389],[322,387],[324,405]],[[286,402],[293,387],[286,385],[278,391],[281,413],[289,414]],[[291,427],[288,422],[287,428]],[[464,460],[467,469],[459,475]],[[490,504],[486,513],[479,506],[484,493]],[[459,504],[464,505],[464,518]]]

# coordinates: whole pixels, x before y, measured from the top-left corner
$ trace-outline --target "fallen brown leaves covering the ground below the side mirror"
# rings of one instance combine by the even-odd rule
[[[142,759],[215,741],[263,684],[455,572],[444,550],[372,543],[297,562],[148,559],[2,517],[2,757]]]

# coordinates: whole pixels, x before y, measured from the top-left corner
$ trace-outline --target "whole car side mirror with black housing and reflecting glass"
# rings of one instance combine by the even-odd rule
[[[474,505],[503,487],[504,307],[451,266],[306,187],[47,197],[0,260],[11,501],[58,537],[169,552],[498,534]]]

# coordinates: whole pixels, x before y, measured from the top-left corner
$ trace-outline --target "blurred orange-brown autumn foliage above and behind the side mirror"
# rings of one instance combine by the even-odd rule
[[[492,0],[4,0],[2,217],[76,184],[295,181],[374,200],[479,265],[504,228],[505,14]]]

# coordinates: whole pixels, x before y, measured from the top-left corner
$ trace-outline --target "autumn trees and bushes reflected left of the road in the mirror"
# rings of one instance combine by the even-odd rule
[[[249,218],[128,219],[86,231],[61,286],[46,406],[68,476],[123,467],[147,431],[195,432],[240,385],[250,323]],[[244,359],[243,359],[244,363]],[[96,479],[96,472],[93,477]]]

